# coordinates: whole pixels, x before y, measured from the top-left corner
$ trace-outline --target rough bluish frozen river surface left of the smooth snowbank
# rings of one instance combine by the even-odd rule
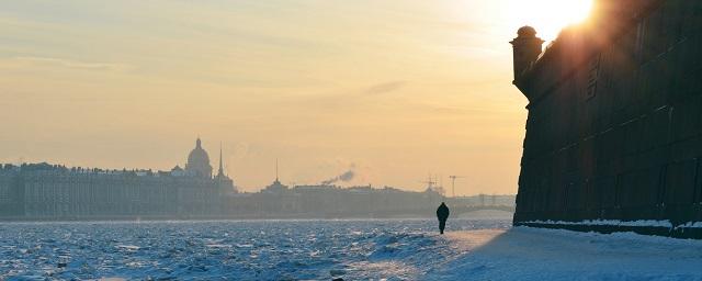
[[[435,228],[433,220],[2,223],[0,280],[414,280],[460,254]]]

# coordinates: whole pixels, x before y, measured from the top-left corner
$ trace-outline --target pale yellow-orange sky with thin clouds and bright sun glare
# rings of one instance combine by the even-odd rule
[[[589,0],[0,2],[0,162],[184,166],[200,136],[244,191],[275,177],[517,192],[511,41]]]

